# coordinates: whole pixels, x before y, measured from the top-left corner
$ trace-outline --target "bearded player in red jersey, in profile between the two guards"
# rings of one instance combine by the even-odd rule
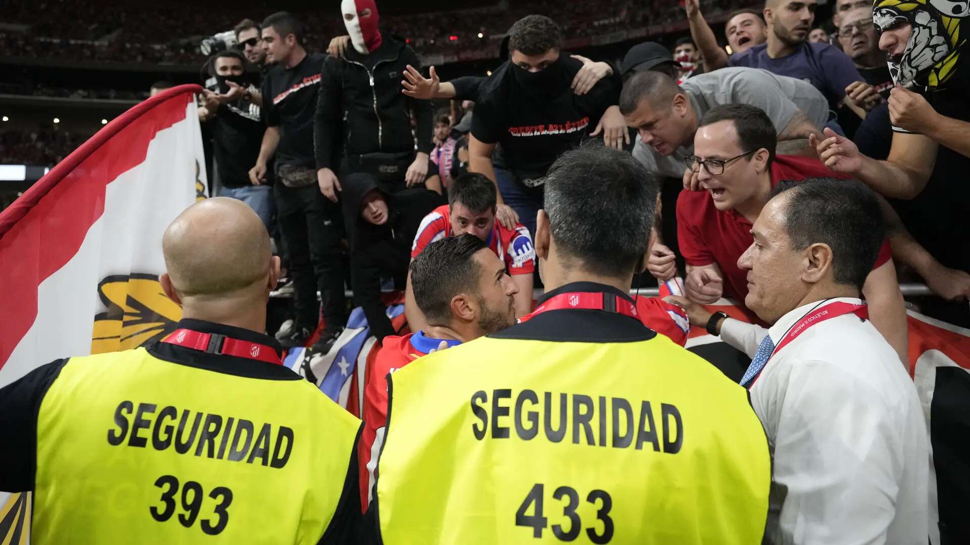
[[[514,297],[519,288],[505,273],[505,264],[474,235],[445,237],[429,244],[411,261],[409,278],[415,304],[428,323],[414,334],[384,337],[368,371],[362,412],[365,425],[357,447],[362,511],[371,502],[374,470],[387,425],[387,375],[421,356],[515,323]]]

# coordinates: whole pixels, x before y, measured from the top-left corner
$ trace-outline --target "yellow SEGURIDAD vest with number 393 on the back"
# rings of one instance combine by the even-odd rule
[[[71,358],[37,415],[32,540],[316,543],[359,429],[303,379]]]

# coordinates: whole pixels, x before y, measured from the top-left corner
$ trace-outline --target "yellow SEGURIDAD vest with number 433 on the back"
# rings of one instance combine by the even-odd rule
[[[482,337],[388,379],[383,542],[760,543],[747,391],[663,336]]]

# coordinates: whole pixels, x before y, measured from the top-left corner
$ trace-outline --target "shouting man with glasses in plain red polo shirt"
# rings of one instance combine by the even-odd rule
[[[743,305],[746,272],[737,260],[751,245],[751,228],[781,180],[832,176],[814,157],[775,155],[777,135],[767,114],[753,106],[718,106],[700,121],[689,157],[703,191],[677,200],[677,240],[687,263],[687,298],[711,305],[722,296]],[[889,243],[866,278],[869,316],[900,358],[906,357],[906,310]]]

